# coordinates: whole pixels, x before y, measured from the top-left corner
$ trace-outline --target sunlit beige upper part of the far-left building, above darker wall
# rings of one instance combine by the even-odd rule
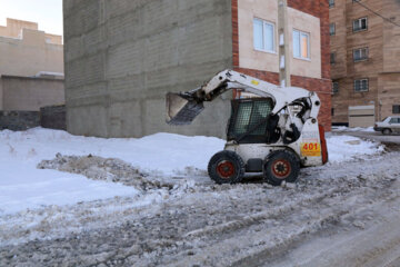
[[[38,31],[37,23],[8,19],[7,27],[0,27],[0,75],[63,73],[61,39]]]

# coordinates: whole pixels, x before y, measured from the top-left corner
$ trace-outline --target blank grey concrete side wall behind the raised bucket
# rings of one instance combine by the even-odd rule
[[[64,0],[63,13],[70,132],[224,136],[228,99],[169,127],[164,96],[232,68],[230,0]]]

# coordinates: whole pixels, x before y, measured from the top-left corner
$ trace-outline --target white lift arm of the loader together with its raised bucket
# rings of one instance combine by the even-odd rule
[[[314,92],[297,87],[282,88],[233,70],[224,70],[198,89],[168,93],[167,122],[170,125],[189,125],[203,110],[204,101],[212,101],[220,95],[233,89],[250,92],[258,97],[271,98],[273,101],[272,115],[299,100],[309,102],[308,118],[317,118],[320,108],[320,100]]]

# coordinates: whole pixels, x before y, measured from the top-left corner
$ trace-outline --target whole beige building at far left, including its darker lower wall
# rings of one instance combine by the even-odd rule
[[[0,110],[38,111],[64,103],[62,37],[38,23],[7,19],[0,26]]]

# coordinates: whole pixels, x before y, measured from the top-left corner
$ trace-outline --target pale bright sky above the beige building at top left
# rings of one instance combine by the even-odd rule
[[[39,23],[39,30],[62,36],[62,0],[0,0],[0,26],[7,18]]]

